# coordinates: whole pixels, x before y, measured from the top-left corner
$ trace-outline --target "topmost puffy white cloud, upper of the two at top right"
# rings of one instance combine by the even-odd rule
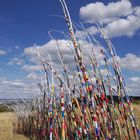
[[[111,22],[116,17],[127,16],[132,13],[132,4],[128,0],[110,2],[105,5],[102,2],[88,4],[80,8],[80,16],[88,23]]]

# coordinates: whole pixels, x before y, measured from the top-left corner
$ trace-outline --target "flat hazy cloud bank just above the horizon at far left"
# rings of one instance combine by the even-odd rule
[[[36,95],[36,87],[21,80],[0,79],[0,98],[28,98]]]

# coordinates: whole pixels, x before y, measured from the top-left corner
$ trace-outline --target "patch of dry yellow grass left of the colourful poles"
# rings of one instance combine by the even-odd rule
[[[23,135],[13,133],[13,114],[0,113],[0,140],[29,140]]]

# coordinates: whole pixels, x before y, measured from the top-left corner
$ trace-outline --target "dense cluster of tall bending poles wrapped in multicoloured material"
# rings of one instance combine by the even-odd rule
[[[92,46],[94,41],[100,50],[107,72],[104,76],[94,48],[90,52],[92,55],[87,50],[89,59],[84,61],[65,0],[60,2],[70,32],[76,70],[68,71],[60,50],[58,53],[63,74],[55,71],[51,61],[41,58],[47,81],[45,86],[48,88],[43,88],[41,82],[37,81],[43,96],[41,94],[31,103],[14,106],[18,119],[17,131],[37,140],[139,140],[140,131],[133,106],[111,41],[97,24],[106,41],[109,50],[107,53],[102,45],[84,30],[88,43]],[[56,43],[58,44],[57,40]],[[111,58],[110,63],[107,56]],[[73,76],[78,84],[70,80],[70,76]]]

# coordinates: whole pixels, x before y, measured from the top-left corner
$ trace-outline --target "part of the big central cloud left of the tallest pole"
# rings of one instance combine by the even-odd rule
[[[49,54],[53,63],[55,64],[60,63],[57,54],[57,48],[58,48],[57,43],[59,44],[60,51],[63,53],[64,59],[67,60],[67,62],[72,61],[72,57],[70,57],[70,55],[72,55],[72,51],[69,49],[71,45],[66,40],[58,40],[57,42],[55,40],[51,40],[44,45],[37,45],[37,46],[25,48],[24,53],[26,56],[29,57],[30,61],[35,63],[38,62],[40,63],[38,54],[43,58],[47,59],[48,61],[50,61],[48,56]]]

